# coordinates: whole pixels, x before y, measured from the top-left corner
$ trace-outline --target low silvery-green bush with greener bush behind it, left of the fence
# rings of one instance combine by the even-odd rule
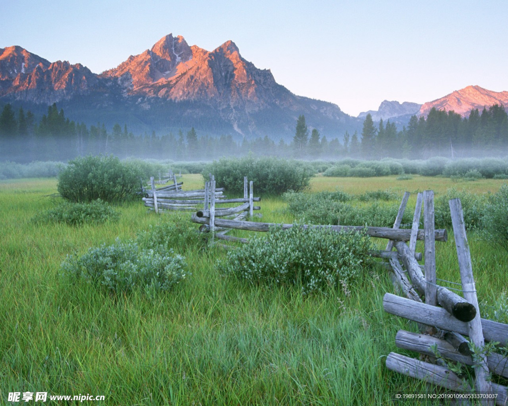
[[[189,275],[181,254],[203,247],[198,230],[183,220],[177,214],[138,232],[135,240],[117,239],[81,256],[69,255],[62,274],[72,283],[84,281],[114,293],[137,290],[153,296],[168,291]]]

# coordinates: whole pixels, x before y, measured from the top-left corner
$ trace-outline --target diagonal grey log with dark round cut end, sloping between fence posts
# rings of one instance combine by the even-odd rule
[[[411,278],[412,284],[417,288],[420,294],[425,294],[427,282],[422,274],[420,265],[412,255],[409,247],[403,242],[395,243],[395,248],[399,253],[400,259]],[[437,302],[450,314],[461,321],[470,321],[476,316],[476,309],[466,299],[453,293],[442,286],[437,287]]]

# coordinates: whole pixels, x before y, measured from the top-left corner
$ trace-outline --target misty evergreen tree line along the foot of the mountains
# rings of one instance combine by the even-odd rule
[[[310,133],[309,133],[310,132]],[[436,155],[467,157],[506,154],[508,115],[502,106],[472,110],[462,118],[450,111],[432,109],[427,116],[412,116],[407,127],[397,130],[395,123],[381,120],[374,124],[370,114],[361,134],[345,132],[343,139],[330,141],[319,130],[309,131],[305,117],[296,122],[291,143],[278,143],[268,136],[236,142],[231,134],[220,137],[198,136],[194,127],[159,137],[135,136],[127,126],[115,124],[108,131],[104,124],[76,123],[65,117],[56,104],[37,122],[30,111],[10,104],[0,114],[0,160],[17,162],[66,161],[76,156],[113,154],[120,158],[212,160],[221,156],[275,155],[295,158],[428,158]],[[454,156],[455,155],[455,156]]]

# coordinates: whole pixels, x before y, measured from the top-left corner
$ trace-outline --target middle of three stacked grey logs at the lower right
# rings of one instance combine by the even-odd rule
[[[446,340],[441,340],[426,334],[413,333],[405,330],[399,330],[395,336],[395,345],[404,350],[416,351],[425,355],[434,355],[430,349],[435,345],[438,353],[447,359],[460,362],[464,365],[472,365],[471,353],[469,355],[461,354],[452,344]],[[489,370],[500,377],[508,378],[508,358],[501,354],[491,353],[487,356],[487,365]]]

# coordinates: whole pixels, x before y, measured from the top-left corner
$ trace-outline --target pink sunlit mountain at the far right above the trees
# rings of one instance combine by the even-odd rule
[[[425,103],[419,115],[427,116],[432,108],[436,110],[453,110],[462,116],[468,116],[472,109],[489,108],[495,104],[508,106],[508,91],[494,92],[480,86],[467,86],[444,97]]]

